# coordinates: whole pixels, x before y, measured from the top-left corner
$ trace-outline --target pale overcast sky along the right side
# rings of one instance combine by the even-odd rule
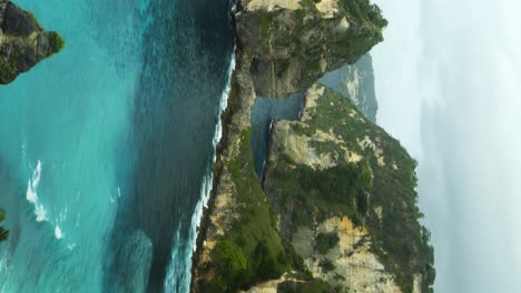
[[[375,2],[377,121],[419,160],[435,292],[521,292],[521,1]]]

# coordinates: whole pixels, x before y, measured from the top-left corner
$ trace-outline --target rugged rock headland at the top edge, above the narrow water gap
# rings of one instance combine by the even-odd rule
[[[365,1],[242,0],[237,4],[238,43],[252,55],[258,95],[286,98],[325,72],[354,63],[383,40],[376,7]],[[352,11],[357,11],[354,13]]]

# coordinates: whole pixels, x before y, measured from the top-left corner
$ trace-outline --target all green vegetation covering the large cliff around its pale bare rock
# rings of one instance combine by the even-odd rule
[[[364,159],[356,164],[338,160],[338,165],[317,171],[285,160],[287,154],[279,155],[272,162],[265,183],[277,211],[293,214],[292,224],[296,226],[311,224],[313,214],[317,221],[347,215],[367,229],[372,251],[404,292],[412,292],[413,277],[419,273],[424,276],[424,291],[430,292],[434,257],[430,233],[419,223],[422,213],[415,191],[416,162],[397,140],[331,89],[325,89],[317,107],[306,111],[311,119],[305,124],[291,124],[296,134],[312,137],[321,130],[342,139],[342,148],[331,141],[312,143],[318,153],[344,158],[350,150]],[[382,208],[382,218],[376,208]]]

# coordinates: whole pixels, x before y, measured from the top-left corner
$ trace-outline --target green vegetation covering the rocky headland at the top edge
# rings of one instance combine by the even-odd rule
[[[341,13],[334,19],[325,19],[316,8],[317,2],[302,0],[299,9],[293,11],[258,9],[252,14],[252,21],[245,23],[248,31],[239,33],[247,39],[244,43],[257,60],[253,63],[253,72],[263,75],[266,68],[272,70],[274,65],[279,79],[291,74],[292,83],[302,84],[304,89],[324,73],[324,59],[328,61],[328,70],[344,63],[352,64],[383,40],[382,29],[386,20],[380,8],[370,4],[368,0],[341,0]],[[342,33],[337,30],[341,14],[345,14],[351,24]],[[287,57],[276,52],[286,52]],[[289,59],[292,64],[302,67],[301,73],[289,70],[294,68],[288,67]],[[272,64],[268,60],[276,62]]]

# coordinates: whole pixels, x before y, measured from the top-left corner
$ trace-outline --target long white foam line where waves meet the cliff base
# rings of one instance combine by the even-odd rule
[[[235,52],[235,49],[234,49]],[[219,143],[220,139],[223,138],[223,122],[222,122],[222,114],[228,107],[228,97],[229,91],[232,88],[232,74],[235,70],[235,53],[232,54],[232,60],[229,62],[229,68],[226,77],[226,88],[222,93],[219,108],[217,110],[217,124],[215,125],[215,135],[213,139],[213,152],[214,156],[212,160],[212,165],[217,161],[217,144]],[[200,221],[203,220],[204,209],[208,205],[208,200],[210,196],[212,188],[213,188],[214,176],[212,172],[212,166],[208,168],[207,174],[203,179],[203,184],[200,188],[200,200],[197,203],[195,211],[191,215],[190,222],[190,231],[189,231],[189,245],[184,254],[180,254],[180,241],[179,241],[179,232],[180,228],[177,229],[176,236],[174,239],[174,245],[176,245],[170,255],[170,264],[168,266],[167,275],[164,283],[164,291],[165,292],[188,292],[190,286],[191,280],[191,255],[194,254],[195,250],[197,249],[197,235],[198,229],[200,225]],[[179,255],[185,255],[184,262],[180,262]],[[181,280],[176,279],[176,276],[181,276]]]

